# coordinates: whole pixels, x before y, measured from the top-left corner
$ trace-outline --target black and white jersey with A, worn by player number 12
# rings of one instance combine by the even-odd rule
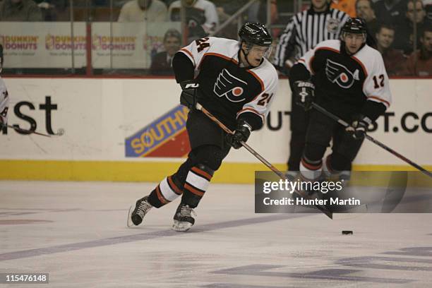
[[[316,102],[346,121],[353,114],[375,120],[392,101],[383,57],[367,44],[349,56],[341,44],[340,40],[320,42],[299,59],[311,73]]]

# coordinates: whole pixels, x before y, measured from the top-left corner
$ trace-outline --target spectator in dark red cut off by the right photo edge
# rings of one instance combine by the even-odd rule
[[[420,42],[420,50],[407,59],[407,74],[422,77],[432,76],[432,23],[429,22],[423,30]]]

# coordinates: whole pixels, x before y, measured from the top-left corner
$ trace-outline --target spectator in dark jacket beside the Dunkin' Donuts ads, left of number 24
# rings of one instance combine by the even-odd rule
[[[150,73],[153,75],[174,75],[172,58],[181,45],[181,34],[175,29],[169,29],[164,35],[164,52],[157,53],[152,59]]]

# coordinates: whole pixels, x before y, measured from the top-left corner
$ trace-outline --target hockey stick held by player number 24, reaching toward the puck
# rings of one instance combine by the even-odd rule
[[[218,126],[220,126],[220,128],[222,128],[223,131],[225,131],[225,132],[227,132],[229,134],[234,134],[233,131],[231,131],[227,126],[225,126],[221,121],[219,121],[219,119],[217,119],[215,116],[213,116],[213,114],[211,114],[210,112],[208,112],[208,110],[205,109],[203,106],[201,106],[201,104],[197,103],[196,104],[196,109],[198,109],[201,112],[203,112],[205,114],[205,116],[208,116],[208,118],[210,118]],[[244,148],[246,148],[246,150],[248,150],[249,152],[251,152],[251,154],[253,156],[255,156],[258,160],[260,160],[260,162],[263,162],[263,164],[265,164],[265,166],[267,166],[270,170],[272,170],[272,172],[275,172],[275,174],[277,174],[277,176],[280,176],[280,178],[283,179],[283,180],[289,180],[287,178],[287,176],[285,176],[282,172],[280,172],[279,169],[277,169],[275,166],[273,166],[270,162],[268,162],[267,160],[265,160],[264,157],[261,156],[261,155],[259,155],[258,152],[256,152],[255,150],[253,150],[253,148],[251,148],[251,146],[249,146],[246,143],[244,143],[244,141],[240,141],[240,143],[241,143],[241,145],[243,145]],[[304,193],[303,191],[296,191],[296,193],[298,193],[303,198],[311,199],[311,197],[307,196],[306,193]],[[321,205],[314,205],[314,206],[318,210],[320,210],[321,212],[323,212],[325,215],[327,215],[330,219],[333,219],[333,213],[331,211],[329,211],[328,209],[326,209],[325,207],[323,207]]]

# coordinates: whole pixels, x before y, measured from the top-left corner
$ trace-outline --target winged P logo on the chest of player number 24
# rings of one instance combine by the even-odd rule
[[[241,102],[246,99],[242,95],[247,85],[244,80],[232,76],[227,69],[222,69],[217,76],[213,92],[219,97],[227,97],[231,102]]]

